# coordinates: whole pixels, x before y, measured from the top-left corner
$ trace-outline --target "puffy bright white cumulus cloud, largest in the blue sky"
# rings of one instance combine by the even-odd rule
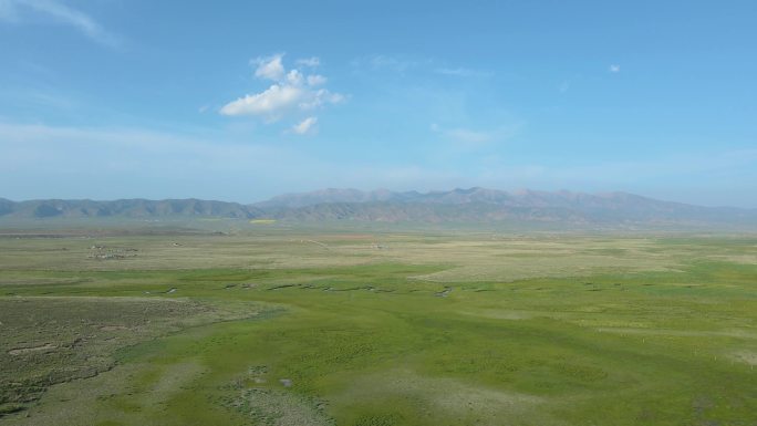
[[[283,54],[261,56],[251,61],[256,66],[255,76],[260,80],[273,81],[262,92],[248,94],[231,101],[220,108],[222,115],[229,116],[260,116],[267,122],[276,122],[286,116],[297,116],[304,112],[338,104],[345,100],[340,93],[333,93],[325,87],[326,77],[320,74],[305,74],[302,69],[287,70],[283,65]],[[307,66],[315,66],[318,58],[300,60]],[[318,86],[318,87],[317,87]],[[312,114],[312,113],[311,113]],[[307,134],[315,124],[317,118],[309,115],[292,127],[298,134]]]

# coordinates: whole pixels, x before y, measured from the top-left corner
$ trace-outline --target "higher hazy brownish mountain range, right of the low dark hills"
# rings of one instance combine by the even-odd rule
[[[692,206],[626,193],[508,193],[478,187],[429,193],[324,189],[287,194],[252,206],[260,208],[270,217],[305,221],[757,224],[757,210]]]

